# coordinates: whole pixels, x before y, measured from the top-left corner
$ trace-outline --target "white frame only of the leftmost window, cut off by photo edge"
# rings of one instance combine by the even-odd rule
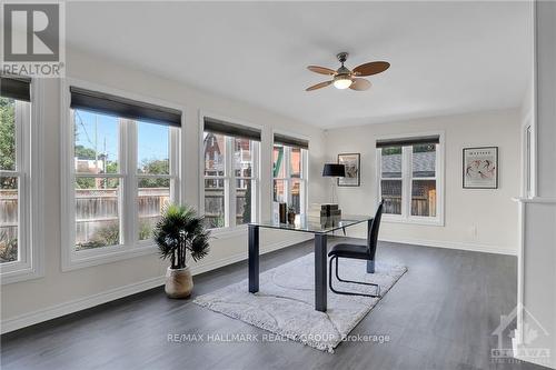
[[[31,80],[31,102],[16,103],[16,170],[18,178],[18,261],[0,264],[2,284],[44,276],[43,249],[43,84]],[[24,107],[27,106],[27,107]]]

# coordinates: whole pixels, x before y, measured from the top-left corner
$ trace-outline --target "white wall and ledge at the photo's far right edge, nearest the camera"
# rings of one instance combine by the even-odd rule
[[[535,136],[535,197],[519,199],[517,357],[556,369],[556,3],[535,1],[535,74],[532,117]],[[540,326],[540,327],[539,327]],[[525,328],[536,330],[528,338]],[[544,349],[549,358],[524,357]]]

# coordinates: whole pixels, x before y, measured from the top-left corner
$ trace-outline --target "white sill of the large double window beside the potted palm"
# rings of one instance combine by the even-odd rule
[[[138,243],[136,247],[115,246],[99,250],[71,251],[62,260],[62,271],[72,271],[88,267],[128,260],[136,257],[155,254],[157,248],[152,243]]]

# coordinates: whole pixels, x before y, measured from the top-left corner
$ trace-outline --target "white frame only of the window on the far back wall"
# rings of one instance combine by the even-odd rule
[[[415,223],[425,226],[440,226],[444,227],[444,187],[445,187],[445,134],[444,131],[435,132],[419,132],[409,134],[396,134],[377,138],[377,140],[391,140],[399,138],[419,138],[438,136],[439,143],[436,147],[436,169],[434,178],[414,178],[411,173],[413,148],[401,147],[401,214],[383,213],[383,221],[385,222],[400,222],[400,223]],[[381,149],[376,149],[377,164],[376,164],[376,179],[377,179],[377,199],[383,197],[381,189]],[[385,178],[384,180],[399,180],[399,178]],[[436,217],[427,216],[413,216],[411,214],[411,187],[413,180],[436,180]]]

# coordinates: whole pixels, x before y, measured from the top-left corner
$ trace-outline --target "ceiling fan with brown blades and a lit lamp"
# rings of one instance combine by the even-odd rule
[[[338,68],[336,71],[334,69],[318,67],[318,66],[307,67],[307,69],[309,71],[320,73],[320,74],[327,74],[327,76],[332,77],[332,79],[330,81],[325,81],[325,82],[320,82],[320,83],[314,84],[311,87],[308,87],[307,89],[305,89],[305,91],[312,91],[312,90],[326,88],[329,84],[334,84],[334,87],[336,89],[340,89],[340,90],[349,88],[351,90],[365,91],[365,90],[370,88],[370,82],[366,79],[361,79],[360,77],[381,73],[390,67],[390,63],[388,63],[388,62],[374,61],[374,62],[358,66],[358,67],[354,68],[353,71],[350,71],[349,69],[344,67],[344,63],[346,62],[348,53],[340,52],[336,57],[338,58],[338,60],[341,63],[341,67]]]

